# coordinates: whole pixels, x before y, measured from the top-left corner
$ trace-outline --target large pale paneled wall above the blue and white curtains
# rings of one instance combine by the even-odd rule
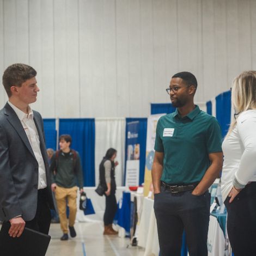
[[[204,102],[255,69],[255,13],[254,0],[0,0],[0,72],[34,66],[45,118],[145,117],[178,71]]]

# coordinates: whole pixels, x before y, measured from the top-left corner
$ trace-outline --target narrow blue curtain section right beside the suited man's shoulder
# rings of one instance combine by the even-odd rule
[[[57,143],[57,131],[56,131],[56,120],[54,118],[44,119],[44,131],[46,148],[52,148],[56,150]]]

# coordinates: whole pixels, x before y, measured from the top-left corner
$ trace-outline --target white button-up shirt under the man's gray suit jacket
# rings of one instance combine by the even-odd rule
[[[40,149],[40,139],[38,135],[38,130],[36,129],[34,122],[34,114],[32,109],[28,106],[28,114],[21,111],[19,108],[15,107],[10,101],[8,104],[13,108],[21,124],[26,132],[28,141],[31,144],[31,148],[35,155],[36,161],[38,161],[38,189],[46,187],[46,170],[44,159],[42,158],[42,153]]]

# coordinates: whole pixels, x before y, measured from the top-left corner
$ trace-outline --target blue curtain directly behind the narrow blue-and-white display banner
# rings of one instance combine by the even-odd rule
[[[146,143],[147,143],[147,124],[148,118],[126,118],[125,126],[125,150],[127,149],[127,123],[138,121],[139,122],[139,185],[144,182],[145,174],[145,161],[146,161]],[[127,154],[125,152],[125,175],[126,175],[126,160]]]

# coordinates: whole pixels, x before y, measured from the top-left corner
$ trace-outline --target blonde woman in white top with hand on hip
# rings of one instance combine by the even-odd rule
[[[235,256],[256,255],[256,71],[245,71],[231,88],[235,118],[222,149],[222,196]]]

